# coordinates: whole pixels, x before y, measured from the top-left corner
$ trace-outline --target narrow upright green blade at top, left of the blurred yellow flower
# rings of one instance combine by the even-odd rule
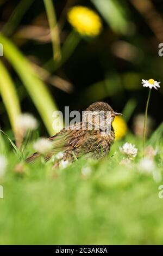
[[[43,2],[45,4],[48,22],[51,29],[53,58],[54,58],[54,61],[60,62],[61,61],[60,38],[59,38],[59,29],[57,25],[57,18],[55,15],[54,3],[52,2],[52,0],[43,0]]]

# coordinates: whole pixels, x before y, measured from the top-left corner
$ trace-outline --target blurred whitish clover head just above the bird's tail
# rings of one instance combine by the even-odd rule
[[[53,142],[45,138],[40,138],[34,143],[33,148],[40,154],[45,154],[52,150]]]

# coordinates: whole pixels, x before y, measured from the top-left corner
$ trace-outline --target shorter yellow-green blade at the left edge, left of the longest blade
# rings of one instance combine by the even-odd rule
[[[20,103],[18,100],[17,92],[14,83],[12,82],[7,69],[0,61],[0,93],[3,99],[5,108],[7,109],[11,127],[16,136],[16,120],[17,116],[21,113]]]

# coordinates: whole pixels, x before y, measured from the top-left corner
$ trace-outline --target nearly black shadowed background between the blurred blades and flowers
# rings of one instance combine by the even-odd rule
[[[19,2],[3,1],[1,3],[0,22],[2,29]],[[60,31],[62,45],[72,30],[71,25],[66,20],[65,6],[68,1],[53,2],[58,20],[61,15],[64,17],[64,24]],[[137,2],[138,8],[135,8],[133,2]],[[147,4],[147,8],[142,13],[143,3]],[[118,1],[118,4],[128,21],[128,31],[125,34],[114,31],[91,1],[70,1],[70,6],[85,5],[94,9],[101,16],[103,31],[95,39],[82,38],[68,61],[52,73],[52,75],[69,81],[73,86],[72,89],[65,92],[48,82],[47,87],[60,110],[64,110],[66,105],[70,106],[71,110],[84,110],[92,102],[102,100],[109,103],[116,111],[122,112],[128,100],[134,99],[136,106],[128,120],[131,128],[133,117],[145,111],[148,90],[141,86],[141,79],[153,78],[162,82],[163,57],[158,55],[158,45],[163,43],[163,2],[161,0],[136,0]],[[69,6],[67,10],[68,8]],[[65,14],[63,14],[63,10],[65,10]],[[157,19],[160,20],[159,26],[156,22]],[[162,26],[160,26],[161,22]],[[17,32],[23,26],[29,25],[48,27],[43,1],[33,1],[11,34],[8,35],[8,30],[3,29],[3,33],[14,41],[27,58],[32,58],[32,61],[43,67],[52,58],[52,43],[50,40],[42,42],[35,38],[22,39],[19,37]],[[128,47],[127,54],[124,53],[122,42]],[[123,57],[117,55],[117,49],[118,52],[124,53],[122,54]],[[126,55],[129,55],[129,59]],[[5,58],[3,61],[15,81],[21,99],[22,111],[32,112],[38,116],[32,100],[11,65]],[[93,86],[97,82],[101,83]],[[149,105],[149,115],[154,117],[157,125],[162,121],[162,92],[162,87],[159,91],[153,90]],[[8,129],[10,125],[1,98],[0,104],[1,126]],[[44,132],[45,130],[42,129],[42,133]]]

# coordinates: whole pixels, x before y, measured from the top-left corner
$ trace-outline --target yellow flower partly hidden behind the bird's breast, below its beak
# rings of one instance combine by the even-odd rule
[[[116,140],[120,140],[127,133],[127,123],[123,120],[121,116],[116,116],[112,122],[112,127],[115,131]]]

